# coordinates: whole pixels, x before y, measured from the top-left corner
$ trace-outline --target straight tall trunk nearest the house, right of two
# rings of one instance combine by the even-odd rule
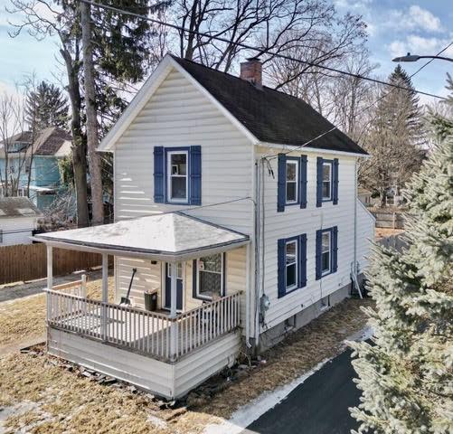
[[[98,112],[94,82],[93,49],[91,44],[90,5],[80,5],[81,38],[83,45],[83,77],[85,80],[85,105],[87,108],[87,147],[90,168],[92,224],[104,222],[102,200],[101,161],[96,149],[99,145]]]

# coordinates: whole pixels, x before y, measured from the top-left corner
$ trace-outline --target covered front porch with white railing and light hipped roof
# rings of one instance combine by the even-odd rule
[[[48,251],[50,353],[168,398],[234,363],[249,281],[248,236],[172,212],[35,239]],[[55,247],[102,255],[100,299],[87,297],[83,279],[53,286]],[[109,255],[115,257],[110,297]],[[144,285],[156,294],[153,311],[144,307]]]

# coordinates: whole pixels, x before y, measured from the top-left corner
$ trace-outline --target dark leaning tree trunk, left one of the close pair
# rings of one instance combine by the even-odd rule
[[[78,62],[72,62],[71,53],[61,49],[61,56],[68,73],[68,93],[71,101],[72,167],[77,203],[77,224],[80,228],[89,225],[87,197],[87,145],[81,131],[81,98]]]

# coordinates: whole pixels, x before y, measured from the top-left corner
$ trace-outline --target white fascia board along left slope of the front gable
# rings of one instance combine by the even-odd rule
[[[136,96],[130,101],[127,109],[124,110],[121,117],[110,128],[109,133],[102,139],[98,146],[98,152],[113,152],[113,147],[117,143],[119,137],[121,137],[130,126],[132,121],[137,117],[141,109],[146,106],[148,100],[153,96],[154,92],[158,89],[162,81],[165,80],[168,73],[171,71],[171,67],[175,61],[168,54],[165,55],[164,59],[157,65],[157,68],[153,73],[146,79],[144,85],[138,90]]]

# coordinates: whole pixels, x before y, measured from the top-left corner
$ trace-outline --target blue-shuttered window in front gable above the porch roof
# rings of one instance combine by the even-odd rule
[[[154,201],[202,204],[202,147],[154,148]]]

